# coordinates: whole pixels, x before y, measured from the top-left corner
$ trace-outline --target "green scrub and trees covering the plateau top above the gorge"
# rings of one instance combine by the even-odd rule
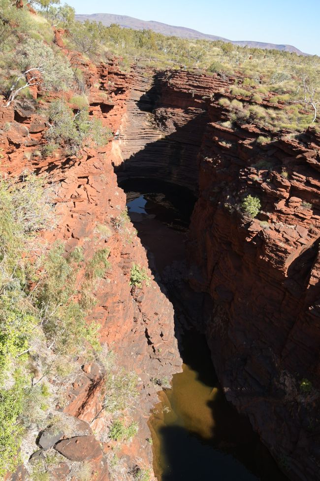
[[[64,56],[52,43],[51,25],[54,25],[66,29],[67,48],[78,50],[95,61],[116,54],[123,56],[125,69],[138,63],[160,70],[182,67],[198,74],[206,72],[218,74],[222,79],[229,78],[230,87],[222,94],[239,100],[231,102],[226,97],[219,102],[229,111],[231,126],[256,123],[273,129],[301,131],[310,124],[317,125],[320,102],[317,56],[240,47],[221,41],[166,37],[150,30],[136,31],[118,25],[104,27],[89,21],[79,23],[74,20],[74,10],[67,5],[59,6],[55,1],[33,3],[40,7],[43,16],[35,17],[27,8],[16,9],[9,0],[1,0],[3,57],[0,67],[2,93],[8,102],[19,89],[18,95],[28,95],[28,88],[39,82],[42,89],[63,90],[73,86],[83,94],[76,56],[71,53]],[[18,52],[14,59],[13,48]],[[86,109],[83,100],[81,109]],[[85,113],[82,116],[85,117]],[[79,119],[74,119],[73,123],[78,130],[75,137],[79,140]],[[84,128],[84,136],[87,129],[88,126]],[[97,125],[89,137],[98,145],[104,140]]]

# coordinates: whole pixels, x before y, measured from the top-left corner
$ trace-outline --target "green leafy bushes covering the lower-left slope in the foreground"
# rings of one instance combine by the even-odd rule
[[[0,475],[12,469],[22,434],[43,423],[54,399],[46,384],[59,359],[72,353],[98,351],[98,325],[88,325],[75,284],[79,250],[65,258],[57,244],[48,255],[37,238],[54,226],[50,193],[39,179],[25,175],[20,182],[0,183]],[[106,256],[106,253],[104,254]],[[106,265],[96,254],[91,262]],[[89,265],[87,271],[92,267]],[[99,271],[98,273],[101,273]],[[90,291],[98,273],[91,277]],[[36,285],[32,288],[32,285]],[[49,346],[49,347],[48,347]],[[66,354],[65,354],[66,353]],[[35,380],[34,370],[42,375]],[[59,375],[56,376],[59,378]],[[31,408],[32,406],[32,408]]]

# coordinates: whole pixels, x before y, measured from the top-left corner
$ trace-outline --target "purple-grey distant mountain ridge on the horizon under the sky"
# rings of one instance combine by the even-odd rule
[[[93,13],[91,15],[76,15],[76,19],[80,22],[85,20],[101,22],[108,27],[112,23],[120,25],[120,27],[126,27],[134,30],[153,30],[154,32],[162,35],[199,39],[199,40],[223,40],[224,42],[230,42],[234,45],[240,45],[242,47],[248,45],[248,47],[266,48],[275,50],[284,50],[287,52],[295,52],[298,55],[307,55],[293,45],[255,42],[252,40],[228,40],[224,37],[218,37],[216,35],[202,34],[197,30],[192,30],[187,27],[176,27],[174,25],[167,25],[165,23],[156,22],[154,20],[146,21],[139,20],[138,18],[128,17],[127,15],[114,15],[112,13]]]

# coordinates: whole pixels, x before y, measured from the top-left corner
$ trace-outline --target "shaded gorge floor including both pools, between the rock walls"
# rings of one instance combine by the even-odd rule
[[[204,332],[205,316],[212,312],[212,303],[207,294],[193,292],[187,280],[185,241],[195,201],[192,192],[180,186],[145,179],[127,180],[121,186],[127,192],[129,216],[147,250],[149,265],[162,292],[174,306],[175,332],[186,366],[184,373],[174,375],[173,389],[165,391],[164,401],[156,407],[156,411],[164,409],[162,424],[159,426],[157,415],[153,415],[150,421],[154,445],[158,446],[154,449],[158,480],[188,481],[194,480],[194,476],[206,479],[213,471],[217,480],[254,481],[258,479],[256,476],[264,481],[271,477],[275,481],[285,480],[267,449],[259,442],[249,420],[226,402],[205,338],[199,334]],[[180,217],[175,223],[172,222],[172,210]],[[150,344],[147,329],[145,334]],[[183,378],[180,380],[181,376],[187,376],[189,386],[184,384]],[[199,404],[199,410],[211,417],[201,418],[201,413],[191,409],[191,419],[188,420],[188,414],[186,418],[179,403],[186,398],[189,400],[187,404],[192,406],[192,396],[197,397],[193,391],[205,390],[205,386],[208,397],[203,405]],[[218,401],[211,399],[210,389],[217,392]],[[172,405],[170,401],[168,405],[168,399]],[[175,406],[177,403],[178,407]],[[168,409],[180,416],[182,425],[170,422],[170,415],[165,413]],[[203,423],[211,422],[214,428],[202,435]],[[198,423],[201,429],[192,427],[193,423]]]

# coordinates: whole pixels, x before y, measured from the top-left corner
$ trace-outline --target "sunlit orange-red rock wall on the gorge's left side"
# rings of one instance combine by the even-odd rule
[[[112,62],[96,67],[81,60],[81,69],[89,92],[89,113],[116,134],[125,111],[130,74],[122,74]],[[43,109],[57,97],[52,94],[43,100],[41,91],[33,95]],[[66,100],[72,107],[70,96],[66,95]],[[119,368],[134,370],[138,376],[139,398],[131,415],[139,431],[134,441],[119,451],[119,457],[127,472],[137,466],[149,468],[152,461],[152,446],[147,441],[149,412],[158,402],[156,391],[160,389],[160,381],[168,382],[180,370],[181,359],[174,335],[172,305],[163,288],[161,291],[153,280],[145,250],[127,218],[126,195],[117,184],[112,164],[119,162],[118,141],[99,149],[84,148],[79,156],[66,156],[63,149],[57,149],[52,156],[43,157],[41,146],[45,145],[47,124],[45,117],[35,111],[32,100],[19,100],[10,108],[2,107],[0,117],[1,126],[7,126],[0,131],[2,174],[19,176],[26,170],[35,172],[52,189],[57,226],[44,233],[46,249],[56,241],[64,243],[66,252],[81,247],[84,262],[99,249],[110,251],[111,267],[96,285],[93,293],[96,305],[88,316],[88,323],[96,321],[101,326],[102,354],[90,362],[79,356],[76,369],[60,386],[64,395],[62,401],[57,401],[56,409],[75,429],[72,436],[61,434],[60,441],[50,438],[52,445],[56,443],[56,452],[63,455],[59,466],[49,471],[50,476],[55,480],[69,479],[73,464],[81,461],[90,463],[91,479],[109,480],[107,457],[114,446],[106,436],[110,415],[102,409],[108,374],[104,366],[107,351],[117,355]],[[133,263],[147,270],[148,286],[145,283],[141,288],[130,286]],[[83,269],[78,275],[84,275]],[[34,356],[35,362],[40,362]],[[52,378],[51,382],[56,381]],[[11,475],[11,480],[28,478],[26,467],[30,456],[32,462],[41,459],[38,438],[47,422],[43,421],[40,433],[33,426],[28,434],[21,453],[25,463]]]

